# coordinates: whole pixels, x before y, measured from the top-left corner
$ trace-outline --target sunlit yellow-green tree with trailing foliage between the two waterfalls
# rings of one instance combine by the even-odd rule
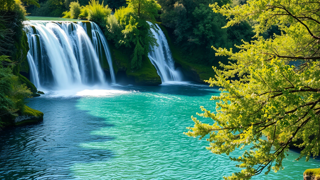
[[[148,55],[150,46],[156,45],[146,20],[154,21],[160,8],[155,0],[130,0],[128,7],[116,10],[107,19],[108,39],[113,40],[116,47],[124,45],[132,49],[133,70],[142,67],[142,58]]]

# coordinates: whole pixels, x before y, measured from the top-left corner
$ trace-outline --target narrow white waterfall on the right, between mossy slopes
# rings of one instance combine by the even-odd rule
[[[159,45],[152,47],[152,51],[149,52],[148,57],[151,63],[156,67],[157,73],[161,78],[162,82],[168,81],[181,81],[182,75],[180,71],[174,68],[174,61],[171,55],[171,51],[167,42],[167,39],[160,29],[159,25],[155,24],[158,29],[155,31],[151,22],[148,22],[150,29],[157,39],[157,44]]]

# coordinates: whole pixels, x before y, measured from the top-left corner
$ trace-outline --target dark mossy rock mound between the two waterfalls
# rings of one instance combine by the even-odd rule
[[[161,84],[161,78],[157,73],[155,66],[151,63],[148,56],[142,59],[142,68],[140,70],[131,70],[130,55],[132,51],[129,48],[117,49],[113,43],[109,43],[115,74],[119,71],[125,71],[127,77],[132,79],[134,84],[154,86]]]

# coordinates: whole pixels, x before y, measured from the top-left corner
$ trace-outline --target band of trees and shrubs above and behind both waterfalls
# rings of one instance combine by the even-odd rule
[[[227,20],[215,13],[209,4],[215,0],[118,0],[118,1],[71,1],[40,0],[40,9],[30,7],[30,16],[53,16],[92,20],[106,32],[106,37],[114,42],[117,48],[131,51],[131,68],[142,67],[142,59],[148,55],[149,45],[155,45],[148,23],[161,22],[167,29],[177,49],[179,59],[193,64],[211,67],[219,65],[219,61],[227,61],[224,57],[215,57],[211,46],[234,47],[249,41],[254,35],[250,23],[244,22],[228,29],[221,29]],[[218,1],[219,5],[231,3],[232,6],[241,1]],[[96,8],[89,10],[89,8]],[[112,9],[110,9],[112,8]],[[114,12],[110,15],[111,10]],[[59,12],[58,12],[59,11]],[[105,11],[105,12],[103,12]],[[100,19],[94,19],[90,14]],[[62,15],[63,14],[63,15]],[[235,48],[236,49],[236,48]]]

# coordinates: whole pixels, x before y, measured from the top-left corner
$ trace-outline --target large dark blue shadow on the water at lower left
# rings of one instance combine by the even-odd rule
[[[92,130],[112,127],[108,119],[79,110],[79,98],[31,99],[31,108],[44,112],[43,122],[0,132],[0,179],[72,179],[75,163],[107,161],[110,150],[80,147],[83,142],[112,141]],[[70,153],[73,152],[73,153]]]

